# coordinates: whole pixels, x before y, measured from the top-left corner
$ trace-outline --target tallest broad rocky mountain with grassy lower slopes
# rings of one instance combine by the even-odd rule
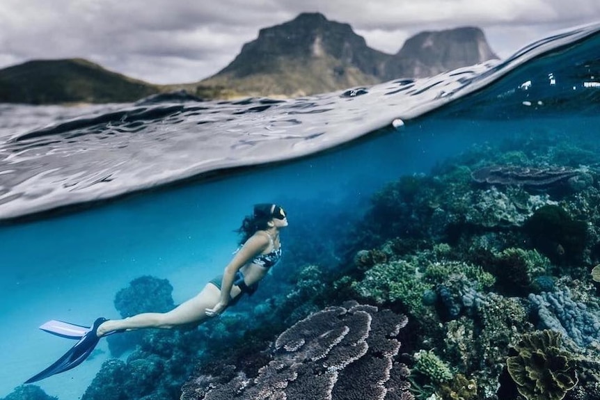
[[[371,49],[349,24],[305,13],[261,29],[240,54],[201,86],[248,95],[308,95],[379,82],[388,54]]]

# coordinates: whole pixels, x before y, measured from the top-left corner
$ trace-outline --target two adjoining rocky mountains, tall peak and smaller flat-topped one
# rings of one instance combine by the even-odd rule
[[[497,58],[477,28],[423,32],[397,54],[371,49],[349,24],[303,13],[261,29],[223,70],[200,82],[246,95],[297,96],[397,78],[429,77]]]

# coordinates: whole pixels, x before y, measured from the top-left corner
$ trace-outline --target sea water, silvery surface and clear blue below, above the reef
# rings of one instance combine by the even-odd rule
[[[597,29],[363,95],[0,106],[0,397],[65,351],[36,329],[43,321],[118,317],[114,294],[140,275],[167,278],[175,303],[194,296],[228,262],[255,202],[285,205],[290,231],[307,214],[335,225],[332,209],[360,215],[386,182],[468,150],[530,137],[597,151]],[[80,397],[102,346],[40,386]]]

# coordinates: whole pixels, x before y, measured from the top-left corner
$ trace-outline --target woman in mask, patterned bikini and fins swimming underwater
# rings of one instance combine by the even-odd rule
[[[99,318],[90,328],[48,321],[40,326],[54,335],[79,339],[72,349],[53,365],[30,378],[26,383],[40,381],[77,367],[93,351],[100,337],[143,328],[174,328],[190,324],[199,325],[235,305],[244,294],[251,295],[258,282],[267,275],[281,257],[279,232],[287,226],[287,216],[282,207],[275,204],[254,206],[251,216],[246,216],[238,232],[242,245],[222,275],[210,280],[194,298],[185,301],[169,312],[144,312],[125,319]]]

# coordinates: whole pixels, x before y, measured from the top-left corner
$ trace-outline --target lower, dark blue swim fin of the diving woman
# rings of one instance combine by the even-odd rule
[[[91,328],[87,328],[87,332],[84,333],[83,336],[79,338],[79,342],[77,342],[72,348],[67,351],[61,358],[58,358],[54,364],[50,365],[39,374],[32,376],[25,383],[33,383],[37,381],[41,381],[49,376],[60,374],[61,372],[68,371],[77,365],[84,362],[86,358],[92,353],[95,349],[96,345],[100,341],[100,337],[96,335],[96,331],[100,324],[106,321],[106,318],[98,318],[94,321],[94,324]],[[71,324],[68,324],[71,325]],[[41,328],[41,327],[40,327]],[[81,326],[79,328],[82,328]],[[85,327],[83,327],[85,328]],[[54,333],[54,331],[50,331]],[[56,334],[56,333],[55,333]],[[62,337],[69,338],[77,338],[72,335],[58,335]]]

